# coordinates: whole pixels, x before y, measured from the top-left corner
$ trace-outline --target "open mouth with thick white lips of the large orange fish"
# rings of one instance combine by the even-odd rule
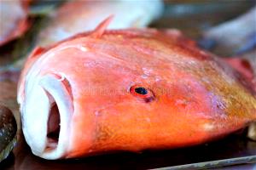
[[[58,159],[67,153],[73,99],[66,84],[67,79],[56,75],[27,84],[31,91],[22,116],[23,132],[37,156]]]

